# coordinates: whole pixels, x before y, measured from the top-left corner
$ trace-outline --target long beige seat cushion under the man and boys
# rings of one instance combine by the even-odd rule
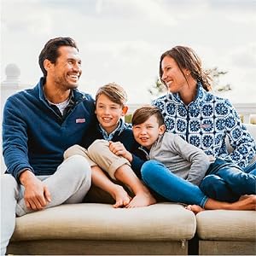
[[[108,204],[61,205],[16,218],[12,240],[88,239],[180,241],[195,235],[195,215],[182,205],[114,209]]]

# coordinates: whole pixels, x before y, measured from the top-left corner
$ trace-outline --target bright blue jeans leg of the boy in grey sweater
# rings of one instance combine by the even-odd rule
[[[205,206],[208,197],[198,186],[173,174],[156,160],[146,161],[141,169],[143,182],[168,201]]]

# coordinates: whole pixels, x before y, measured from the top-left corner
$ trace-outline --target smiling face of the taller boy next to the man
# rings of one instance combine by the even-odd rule
[[[108,96],[102,94],[96,101],[96,117],[102,128],[109,133],[114,131],[119,125],[119,119],[125,116],[127,107],[112,102]]]

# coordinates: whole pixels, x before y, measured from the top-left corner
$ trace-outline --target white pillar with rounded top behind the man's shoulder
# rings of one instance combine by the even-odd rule
[[[3,161],[3,152],[2,152],[2,121],[3,121],[3,107],[4,104],[7,100],[7,98],[11,95],[13,95],[15,92],[19,90],[19,84],[20,84],[20,68],[14,64],[11,63],[5,67],[5,75],[6,79],[3,80],[1,83],[1,113],[0,113],[0,118],[1,118],[1,149],[0,149],[0,154],[1,154],[1,173],[3,173],[6,169]]]

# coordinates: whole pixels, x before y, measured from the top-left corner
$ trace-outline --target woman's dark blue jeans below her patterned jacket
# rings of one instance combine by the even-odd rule
[[[256,162],[241,169],[232,162],[217,159],[199,187],[205,195],[218,201],[234,202],[241,195],[256,194]]]

